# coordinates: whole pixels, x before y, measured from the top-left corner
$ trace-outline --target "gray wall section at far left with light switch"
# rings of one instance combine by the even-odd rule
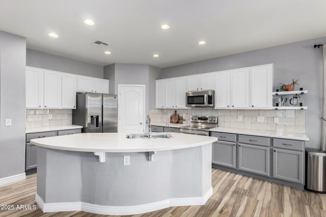
[[[0,30],[0,178],[25,171],[25,60],[25,38]]]

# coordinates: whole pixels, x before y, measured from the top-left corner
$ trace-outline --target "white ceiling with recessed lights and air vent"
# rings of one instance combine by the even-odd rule
[[[100,66],[165,68],[324,37],[325,9],[324,0],[0,0],[0,30],[26,37],[28,48]]]

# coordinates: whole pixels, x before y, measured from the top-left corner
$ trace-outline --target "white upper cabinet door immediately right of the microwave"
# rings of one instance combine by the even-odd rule
[[[215,108],[230,108],[230,71],[214,74]]]

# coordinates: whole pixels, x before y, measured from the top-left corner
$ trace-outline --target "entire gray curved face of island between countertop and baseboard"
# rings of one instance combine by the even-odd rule
[[[148,152],[106,153],[104,163],[93,152],[38,148],[38,195],[45,203],[137,206],[202,198],[211,188],[211,144],[157,151],[154,161]]]

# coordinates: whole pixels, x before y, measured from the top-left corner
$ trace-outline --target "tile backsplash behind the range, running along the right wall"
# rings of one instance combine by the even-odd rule
[[[306,133],[306,110],[150,109],[151,121],[170,122],[175,110],[179,115],[185,114],[183,123],[187,124],[190,124],[191,115],[212,115],[218,116],[219,127]],[[257,121],[258,116],[263,117],[262,122]],[[274,122],[274,117],[278,118],[278,123]]]

